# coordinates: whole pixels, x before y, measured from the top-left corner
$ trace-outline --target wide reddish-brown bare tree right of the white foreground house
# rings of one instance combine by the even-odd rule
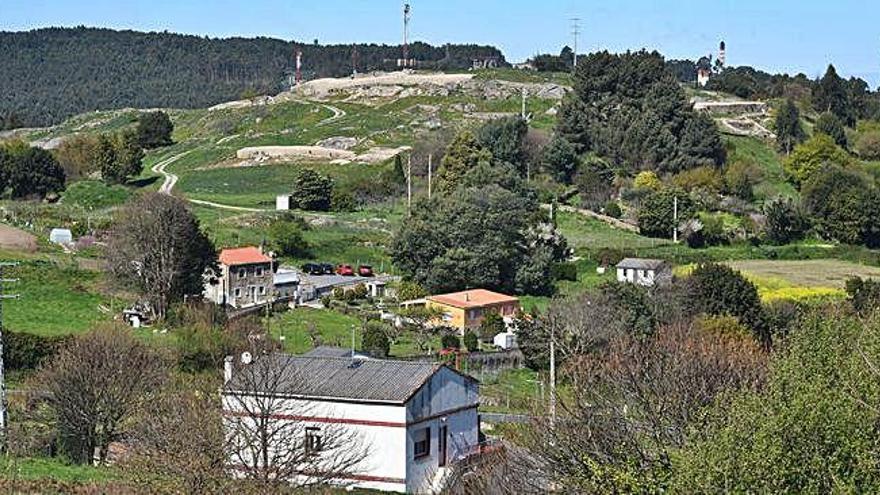
[[[651,337],[619,336],[599,352],[569,358],[570,394],[561,395],[558,418],[537,421],[521,441],[569,493],[656,486],[670,451],[688,429],[700,428],[703,408],[722,392],[759,387],[766,359],[748,337],[687,324]]]

